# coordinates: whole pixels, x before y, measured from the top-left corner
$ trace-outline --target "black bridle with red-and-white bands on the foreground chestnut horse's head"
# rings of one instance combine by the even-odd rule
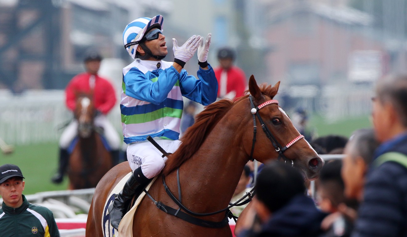
[[[287,162],[287,160],[288,160],[288,161],[291,161],[291,163],[293,163],[293,161],[288,159],[286,156],[284,156],[283,153],[290,146],[292,146],[296,141],[300,140],[301,138],[304,138],[304,135],[299,135],[298,137],[295,137],[287,145],[282,147],[280,145],[280,143],[278,143],[277,139],[270,132],[269,128],[267,128],[267,126],[263,122],[263,119],[260,117],[260,113],[257,113],[257,111],[259,111],[261,108],[265,107],[268,104],[278,104],[278,101],[277,100],[268,100],[268,101],[264,102],[263,104],[260,104],[258,107],[255,107],[254,103],[253,103],[252,95],[249,95],[249,100],[250,100],[250,104],[252,106],[250,113],[252,113],[252,115],[253,115],[253,143],[252,143],[252,150],[250,151],[250,160],[254,161],[253,153],[254,153],[254,144],[256,143],[256,133],[257,133],[256,115],[257,115],[257,118],[261,124],[261,127],[263,128],[264,133],[266,134],[267,138],[271,141],[271,144],[273,144],[274,149],[276,149],[276,152],[278,152],[277,160],[280,161],[280,159],[282,158],[284,160],[284,162]]]

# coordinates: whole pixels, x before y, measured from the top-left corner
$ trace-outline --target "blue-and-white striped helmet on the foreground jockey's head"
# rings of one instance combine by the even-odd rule
[[[138,43],[143,38],[147,30],[151,29],[151,26],[162,30],[163,21],[164,18],[162,15],[156,15],[153,18],[140,17],[127,24],[125,30],[123,31],[123,43],[127,52],[129,52],[133,59],[136,58]]]

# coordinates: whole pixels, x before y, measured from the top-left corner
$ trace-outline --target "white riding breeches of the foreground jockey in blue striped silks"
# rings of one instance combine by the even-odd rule
[[[178,149],[181,141],[154,137],[154,140],[166,152],[173,153]],[[162,158],[162,153],[149,141],[136,141],[127,147],[127,160],[131,170],[141,166],[141,171],[147,178],[157,176],[164,168],[167,157]]]

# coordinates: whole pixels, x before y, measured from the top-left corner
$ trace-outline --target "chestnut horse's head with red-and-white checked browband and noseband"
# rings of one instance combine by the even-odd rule
[[[277,100],[273,100],[278,92],[280,82],[274,87],[271,85],[257,85],[254,76],[249,79],[249,99],[251,102],[252,119],[257,126],[256,143],[252,142],[254,128],[247,128],[243,144],[247,146],[247,154],[252,154],[252,159],[262,163],[269,159],[292,164],[293,167],[304,172],[306,178],[313,180],[318,177],[319,170],[324,165],[324,161],[318,156],[311,145],[293,126],[289,116],[278,105]],[[245,113],[249,113],[245,111]],[[256,149],[263,144],[261,149]],[[268,144],[268,146],[264,146]],[[253,150],[253,151],[252,151]],[[282,158],[282,160],[281,160]]]

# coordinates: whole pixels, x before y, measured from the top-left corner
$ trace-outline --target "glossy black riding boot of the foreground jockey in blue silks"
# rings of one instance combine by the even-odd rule
[[[139,196],[150,180],[150,178],[146,178],[143,172],[141,172],[141,167],[134,170],[133,174],[131,174],[125,183],[123,190],[120,191],[114,201],[109,205],[110,224],[113,228],[116,230],[119,228],[120,221],[127,213],[127,202],[133,196]]]

